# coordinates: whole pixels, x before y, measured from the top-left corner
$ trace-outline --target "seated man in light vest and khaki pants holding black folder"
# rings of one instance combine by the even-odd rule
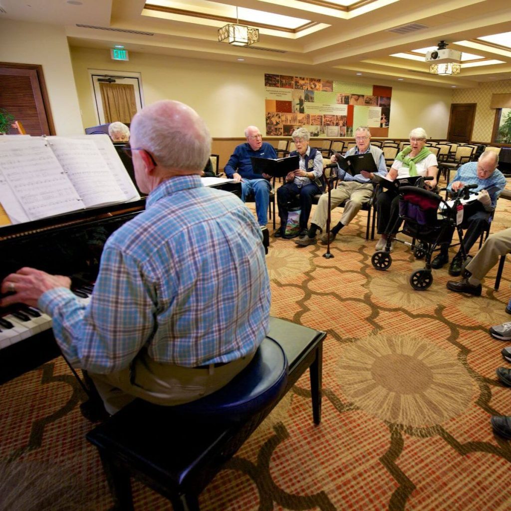
[[[351,156],[352,154],[364,154],[371,153],[375,160],[376,167],[378,168],[378,174],[385,176],[387,173],[387,167],[385,166],[385,157],[383,151],[378,147],[370,145],[371,132],[367,126],[360,126],[355,131],[355,142],[357,145],[352,149],[346,151],[345,156]],[[336,162],[337,159],[332,156],[332,161]],[[344,212],[342,213],[340,222],[337,223],[331,229],[330,233],[324,233],[321,236],[323,243],[328,242],[328,236],[330,241],[334,241],[337,233],[349,224],[355,215],[360,211],[362,204],[368,202],[373,194],[373,179],[374,174],[372,172],[362,171],[360,174],[352,176],[346,171],[339,169],[339,180],[341,181],[337,188],[331,191],[330,197],[330,209],[338,206],[341,202],[347,201],[344,206]],[[311,227],[307,231],[305,236],[301,236],[297,240],[294,240],[298,245],[311,245],[317,242],[316,231],[323,229],[327,223],[328,218],[328,194],[323,194],[319,199],[316,211],[311,221]]]

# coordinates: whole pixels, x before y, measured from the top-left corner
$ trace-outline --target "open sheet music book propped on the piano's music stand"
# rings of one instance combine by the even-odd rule
[[[108,135],[0,138],[0,204],[13,224],[140,199]]]

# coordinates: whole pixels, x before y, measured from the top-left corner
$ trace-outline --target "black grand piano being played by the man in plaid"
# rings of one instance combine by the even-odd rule
[[[213,184],[241,196],[241,184]],[[0,227],[0,281],[23,266],[72,278],[87,300],[110,234],[145,208],[145,198],[34,222]],[[266,238],[267,239],[267,238]],[[22,305],[0,308],[0,384],[60,355],[51,318]]]

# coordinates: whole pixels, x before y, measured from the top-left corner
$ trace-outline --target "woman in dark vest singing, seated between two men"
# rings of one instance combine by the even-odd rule
[[[277,189],[278,216],[281,218],[281,226],[275,231],[275,238],[285,237],[289,206],[293,204],[297,195],[300,201],[299,236],[307,234],[312,199],[315,195],[321,194],[324,188],[321,180],[323,156],[320,151],[309,146],[309,132],[305,128],[298,128],[293,131],[291,137],[296,145],[296,151],[291,151],[289,156],[299,156],[299,168],[289,172],[286,183]]]

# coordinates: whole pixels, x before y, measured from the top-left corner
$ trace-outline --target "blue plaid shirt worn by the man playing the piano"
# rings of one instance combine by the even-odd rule
[[[65,357],[94,373],[129,366],[144,346],[187,367],[238,359],[268,332],[261,228],[234,194],[172,177],[107,240],[88,306],[57,288],[39,307]]]

